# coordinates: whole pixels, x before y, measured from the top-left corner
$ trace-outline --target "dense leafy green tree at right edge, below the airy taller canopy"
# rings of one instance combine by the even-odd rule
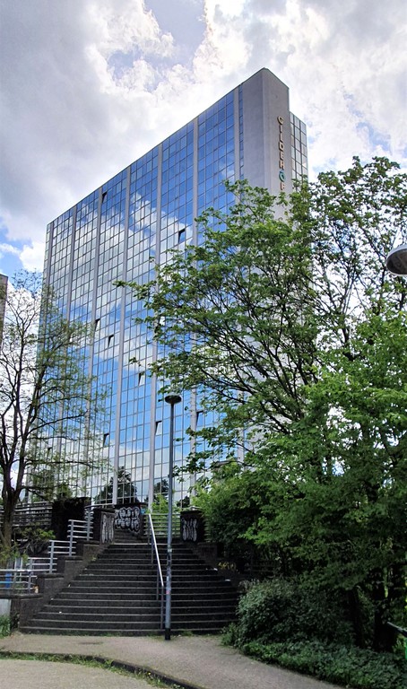
[[[400,312],[365,314],[352,356],[326,355],[309,388],[306,414],[285,442],[303,473],[301,497],[279,513],[267,505],[255,541],[290,544],[303,571],[348,596],[363,643],[360,594],[374,605],[374,645],[388,648],[387,621],[403,625],[407,540],[407,322]],[[266,530],[264,527],[266,525]]]

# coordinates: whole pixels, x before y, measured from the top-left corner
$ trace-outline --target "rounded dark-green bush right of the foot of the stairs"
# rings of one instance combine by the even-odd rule
[[[282,579],[248,586],[238,604],[238,624],[231,633],[238,644],[310,638],[352,642],[351,624],[343,619],[332,595],[301,589],[296,582]]]

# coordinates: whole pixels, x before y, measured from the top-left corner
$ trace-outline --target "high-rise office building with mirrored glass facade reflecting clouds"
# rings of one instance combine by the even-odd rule
[[[152,258],[162,264],[169,249],[199,242],[195,217],[208,206],[227,211],[233,203],[225,179],[248,179],[278,195],[303,175],[306,128],[290,114],[287,86],[262,69],[50,222],[45,281],[69,318],[94,325],[89,371],[96,388],[108,390],[94,428],[83,425],[74,443],[49,439],[49,449],[62,458],[56,483],[69,481],[76,493],[86,490],[93,500],[115,503],[134,494],[152,500],[154,487],[166,484],[169,406],[147,374],[156,352],[145,328],[134,323],[142,305],[114,283],[147,282]],[[176,465],[190,449],[186,428],[203,421],[198,414],[190,395],[176,407],[176,436],[182,438]],[[90,451],[81,435],[89,435],[105,458],[91,475],[80,469],[78,453]],[[176,488],[179,499],[190,484]]]

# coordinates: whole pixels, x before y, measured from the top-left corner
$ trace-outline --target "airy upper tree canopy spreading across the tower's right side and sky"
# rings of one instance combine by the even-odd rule
[[[360,357],[358,324],[403,318],[405,301],[405,284],[385,271],[405,232],[405,176],[394,163],[355,159],[289,199],[245,182],[229,189],[229,214],[198,219],[202,243],[172,251],[152,282],[130,283],[162,353],[152,372],[168,388],[197,390],[217,413],[198,432],[212,457],[234,451],[242,428],[255,429],[255,452],[260,437],[289,434],[329,358]]]

